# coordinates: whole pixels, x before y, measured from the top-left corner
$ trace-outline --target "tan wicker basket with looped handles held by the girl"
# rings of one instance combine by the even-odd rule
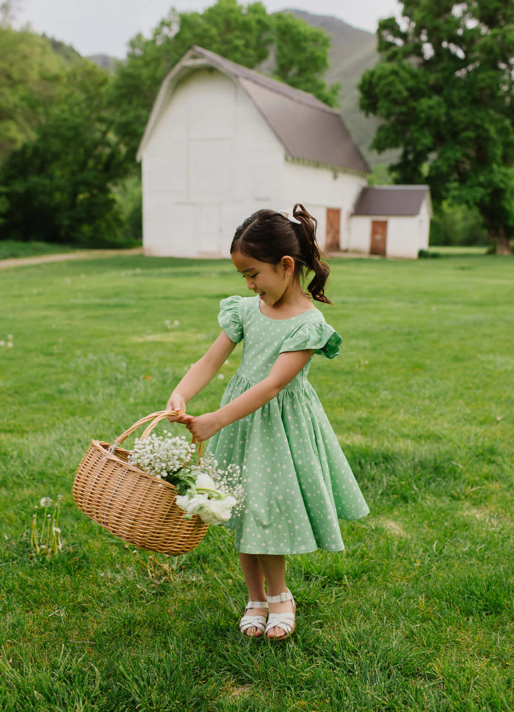
[[[132,431],[152,421],[140,438],[144,440],[169,415],[176,413],[160,411],[147,415],[112,445],[92,440],[78,467],[73,497],[88,517],[127,543],[177,556],[199,545],[209,525],[197,515],[184,519],[184,511],[175,504],[177,489],[131,465],[130,451],[119,447]],[[200,461],[201,443],[198,454]]]

